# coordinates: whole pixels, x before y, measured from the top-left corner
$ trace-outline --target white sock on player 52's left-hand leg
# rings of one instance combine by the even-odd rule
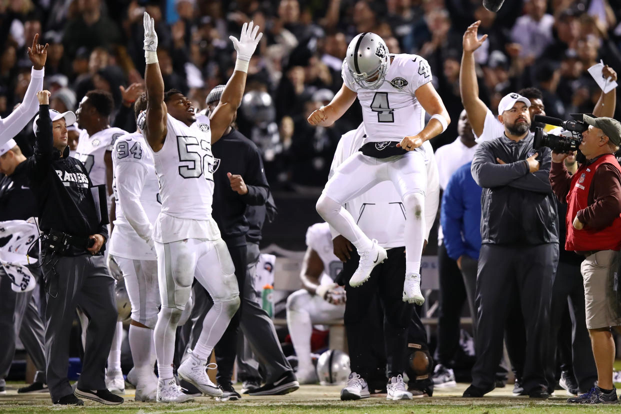
[[[181,318],[181,310],[162,307],[157,315],[157,323],[153,330],[153,342],[157,355],[157,369],[160,379],[173,377],[173,356],[175,355],[175,335],[177,323]]]

